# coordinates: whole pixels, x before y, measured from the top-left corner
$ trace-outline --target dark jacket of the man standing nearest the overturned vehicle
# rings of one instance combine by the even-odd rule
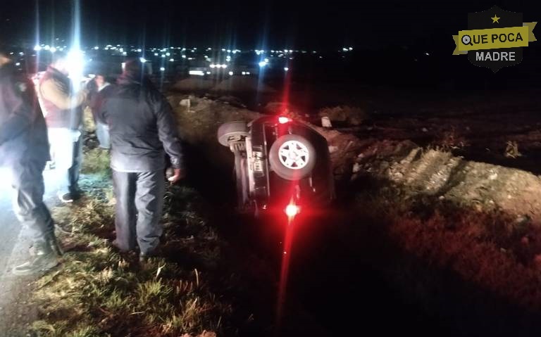
[[[113,170],[162,170],[165,153],[174,168],[182,168],[182,148],[171,106],[154,86],[120,77],[118,84],[106,87],[100,96],[94,111],[97,120],[109,126]]]

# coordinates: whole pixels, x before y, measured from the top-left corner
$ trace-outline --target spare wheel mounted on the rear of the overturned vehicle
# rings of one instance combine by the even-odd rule
[[[293,153],[294,158],[287,153]],[[303,136],[286,134],[270,146],[268,153],[270,168],[278,177],[299,180],[308,177],[316,165],[316,150]]]

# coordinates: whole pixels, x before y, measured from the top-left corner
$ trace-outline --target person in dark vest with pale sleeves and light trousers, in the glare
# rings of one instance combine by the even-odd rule
[[[77,182],[82,162],[82,104],[85,103],[88,91],[75,91],[68,77],[66,55],[56,52],[53,62],[39,80],[38,94],[58,172],[58,198],[64,203],[70,203],[79,193]]]

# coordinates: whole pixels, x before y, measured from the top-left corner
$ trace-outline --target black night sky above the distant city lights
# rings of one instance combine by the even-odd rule
[[[497,4],[541,21],[541,1],[119,1],[81,0],[83,44],[231,48],[378,48],[466,27]],[[37,15],[39,4],[39,15]],[[2,0],[0,39],[69,39],[72,0]],[[39,16],[39,25],[36,24]],[[452,44],[452,40],[450,42]]]

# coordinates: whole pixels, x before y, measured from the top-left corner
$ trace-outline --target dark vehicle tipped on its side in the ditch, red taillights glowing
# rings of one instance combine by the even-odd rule
[[[284,116],[228,122],[219,127],[218,141],[235,155],[241,212],[294,216],[335,198],[327,141],[303,122]]]

